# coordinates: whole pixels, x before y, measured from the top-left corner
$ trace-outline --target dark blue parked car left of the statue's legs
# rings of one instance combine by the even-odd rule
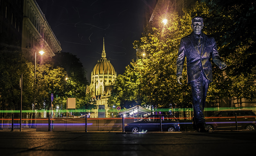
[[[162,130],[168,132],[180,131],[179,121],[173,115],[161,115]],[[160,115],[149,115],[140,121],[124,125],[125,132],[161,131]]]

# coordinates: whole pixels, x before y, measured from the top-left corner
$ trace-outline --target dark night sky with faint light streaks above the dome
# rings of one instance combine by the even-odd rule
[[[60,41],[62,51],[77,56],[91,72],[101,58],[103,37],[106,56],[117,74],[136,59],[133,41],[143,32],[145,11],[154,0],[36,0]],[[153,4],[154,5],[154,4]],[[151,7],[149,9],[152,10]]]

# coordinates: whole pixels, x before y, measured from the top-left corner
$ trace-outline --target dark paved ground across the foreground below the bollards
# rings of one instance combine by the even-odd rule
[[[10,132],[0,131],[0,155],[236,156],[256,155],[256,131]]]

